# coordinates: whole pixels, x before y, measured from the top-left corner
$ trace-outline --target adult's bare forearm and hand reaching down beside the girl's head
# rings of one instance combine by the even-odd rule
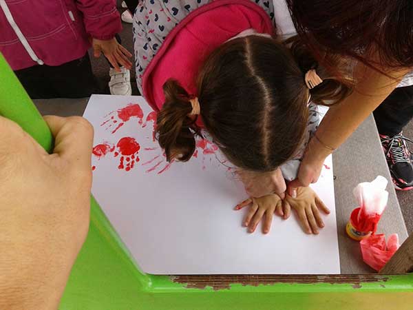
[[[331,107],[321,121],[316,132],[317,138],[311,139],[298,177],[288,185],[288,193],[294,195],[295,189],[317,182],[326,157],[332,149],[337,149],[361,125],[361,123],[394,90],[405,74],[411,69],[391,71],[381,68],[385,74],[366,65],[356,68],[357,83],[354,92],[339,105]]]

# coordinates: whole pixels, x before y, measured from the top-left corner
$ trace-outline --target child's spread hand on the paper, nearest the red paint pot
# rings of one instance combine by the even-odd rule
[[[324,227],[319,209],[324,211],[325,214],[330,214],[328,207],[324,205],[319,196],[310,187],[297,188],[297,198],[286,195],[284,205],[297,211],[299,222],[306,234],[318,234],[319,228]]]

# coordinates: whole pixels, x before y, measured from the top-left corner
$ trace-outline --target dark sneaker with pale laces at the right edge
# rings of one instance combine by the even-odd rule
[[[381,134],[380,140],[394,187],[402,191],[413,189],[412,154],[407,148],[407,142],[413,143],[413,141],[403,136],[402,133],[396,136]]]

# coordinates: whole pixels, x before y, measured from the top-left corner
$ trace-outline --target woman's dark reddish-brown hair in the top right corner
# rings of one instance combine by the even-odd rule
[[[412,0],[286,0],[301,40],[332,68],[330,55],[373,68],[413,68]]]

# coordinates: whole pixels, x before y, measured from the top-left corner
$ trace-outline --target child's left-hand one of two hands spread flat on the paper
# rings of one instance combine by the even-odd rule
[[[263,196],[260,198],[248,198],[235,207],[235,210],[240,210],[247,205],[251,205],[248,213],[244,218],[243,225],[248,227],[248,231],[253,233],[257,228],[258,223],[265,214],[264,225],[262,225],[262,232],[267,234],[270,231],[271,222],[273,221],[274,211],[277,210],[279,214],[282,210],[282,200],[276,194]]]

